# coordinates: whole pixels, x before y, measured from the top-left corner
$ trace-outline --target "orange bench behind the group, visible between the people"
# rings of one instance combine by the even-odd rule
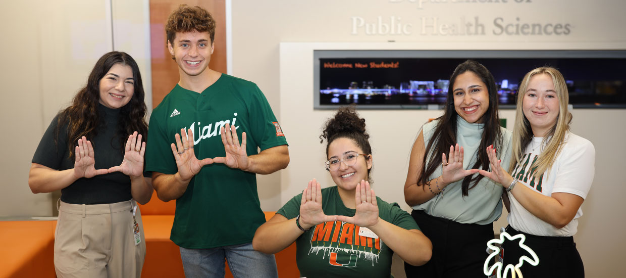
[[[155,195],[140,207],[146,239],[141,277],[185,277],[180,250],[170,240],[175,203],[162,202]],[[274,212],[265,212],[266,219],[272,216]],[[56,277],[55,228],[56,220],[0,221],[0,277]],[[300,277],[295,244],[276,254],[276,264],[281,278]],[[230,269],[226,277],[232,277]]]

